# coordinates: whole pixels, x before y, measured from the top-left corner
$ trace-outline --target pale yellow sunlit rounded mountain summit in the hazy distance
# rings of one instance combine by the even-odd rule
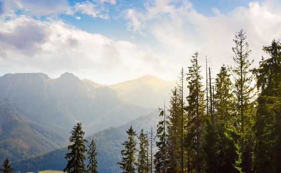
[[[84,80],[94,87],[104,87],[100,84]],[[110,85],[127,103],[147,108],[158,108],[163,102],[169,101],[170,91],[175,87],[175,81],[163,81],[155,76],[145,75],[135,80]]]

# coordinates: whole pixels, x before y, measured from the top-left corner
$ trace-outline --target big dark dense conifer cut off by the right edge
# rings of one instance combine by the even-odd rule
[[[271,57],[262,58],[255,69],[260,89],[255,117],[255,173],[281,172],[281,43],[273,40],[263,50]]]

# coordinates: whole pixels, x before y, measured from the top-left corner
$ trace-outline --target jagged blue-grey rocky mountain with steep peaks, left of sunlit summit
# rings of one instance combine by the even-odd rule
[[[94,86],[72,73],[57,79],[42,73],[6,74],[0,77],[0,96],[65,130],[79,121],[88,133],[153,111],[123,102],[110,87]]]

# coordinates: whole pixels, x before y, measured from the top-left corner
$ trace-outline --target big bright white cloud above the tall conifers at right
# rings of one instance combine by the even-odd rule
[[[180,5],[175,5],[174,0],[153,0],[143,12],[126,10],[125,18],[132,31],[144,32],[157,41],[154,55],[167,60],[165,67],[174,76],[182,66],[190,64],[196,51],[203,66],[205,55],[212,57],[212,68],[217,72],[223,63],[233,63],[232,40],[240,29],[246,32],[254,65],[264,55],[262,46],[281,38],[281,11],[274,10],[281,3],[269,1],[250,2],[248,7],[239,6],[228,14],[213,9],[214,16],[205,16],[188,0],[182,0]]]

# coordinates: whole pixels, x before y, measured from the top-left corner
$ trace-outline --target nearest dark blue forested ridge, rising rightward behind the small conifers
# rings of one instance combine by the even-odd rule
[[[150,127],[156,129],[159,121],[159,112],[141,116],[120,127],[111,127],[100,130],[87,138],[93,138],[97,144],[98,171],[99,173],[119,173],[120,169],[117,162],[120,161],[120,151],[122,143],[127,140],[126,130],[132,125],[133,129],[139,133],[141,129],[149,130]],[[66,147],[57,149],[46,154],[23,159],[12,163],[15,171],[30,172],[37,170],[63,170],[67,164],[64,159],[68,152]]]

